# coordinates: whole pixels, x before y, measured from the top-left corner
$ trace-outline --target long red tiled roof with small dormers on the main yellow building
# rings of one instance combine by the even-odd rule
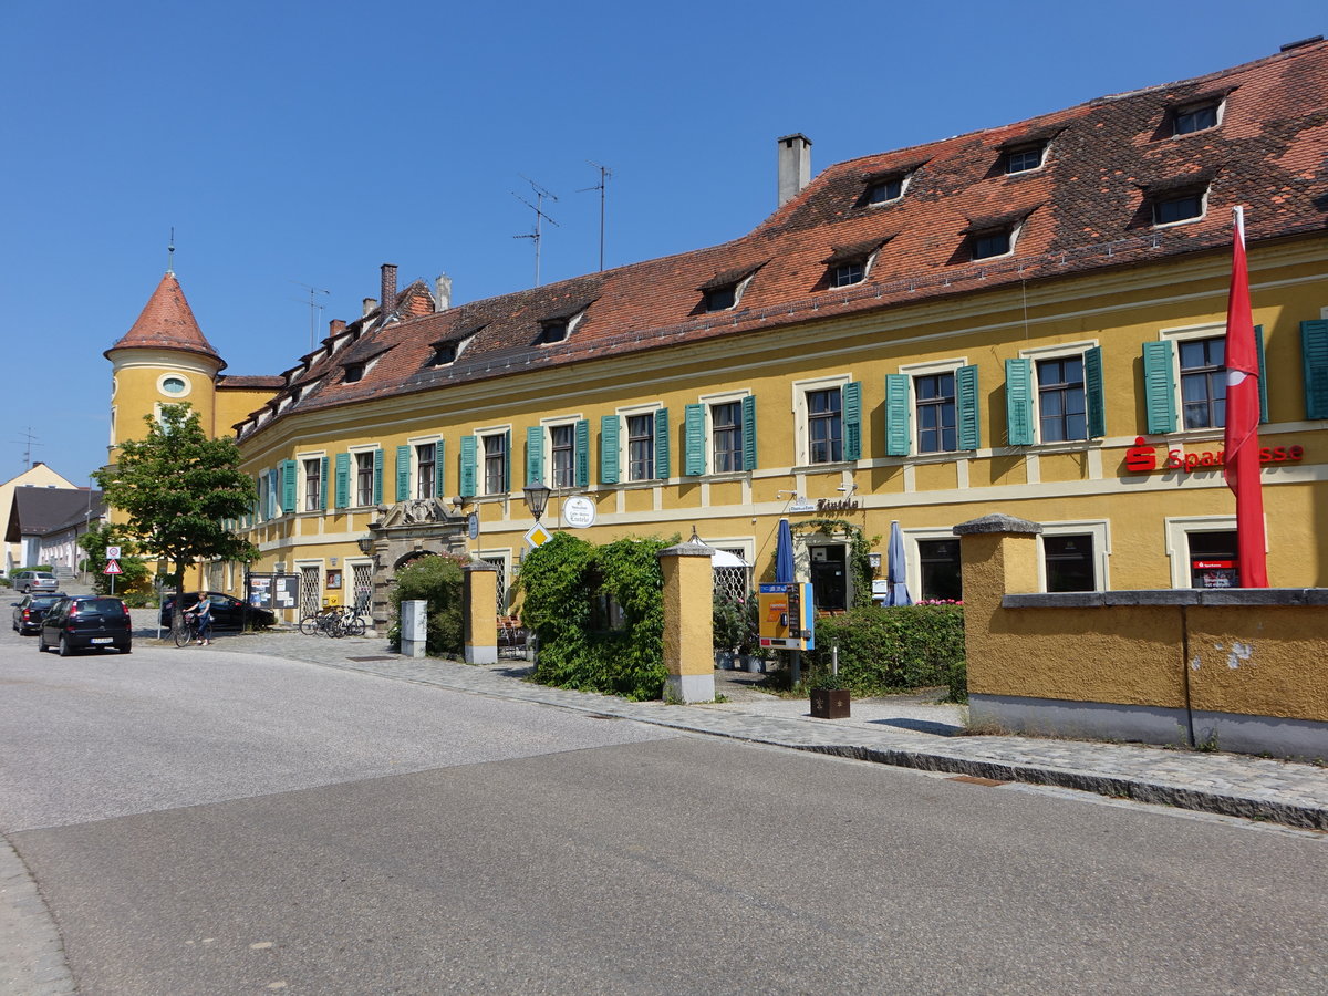
[[[1226,100],[1216,127],[1173,135],[1175,108]],[[1001,157],[1049,142],[1038,169],[1007,174]],[[290,374],[319,380],[286,413],[445,388],[525,369],[718,336],[758,335],[813,317],[869,312],[1019,280],[1137,266],[1230,246],[1230,208],[1247,239],[1321,235],[1328,220],[1328,42],[1195,80],[1089,101],[1013,125],[827,167],[749,235],[527,291],[421,313],[398,304],[327,347],[390,347],[355,384],[324,348]],[[902,198],[867,205],[866,185],[910,171]],[[1202,219],[1157,228],[1150,191],[1207,182]],[[1013,254],[973,262],[971,236],[1023,222]],[[837,250],[879,244],[867,280],[830,288]],[[756,271],[740,304],[706,313],[704,288]],[[701,288],[701,290],[699,290]],[[540,347],[540,321],[590,303],[563,343]],[[456,363],[429,368],[432,344],[475,329]],[[373,344],[372,347],[369,344]],[[270,405],[275,409],[276,401]],[[268,422],[270,424],[270,422]],[[242,430],[247,432],[247,430]]]

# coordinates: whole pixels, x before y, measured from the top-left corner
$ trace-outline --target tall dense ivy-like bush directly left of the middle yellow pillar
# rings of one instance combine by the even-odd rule
[[[539,637],[531,679],[640,701],[664,693],[664,572],[677,542],[619,539],[596,547],[568,533],[526,555],[521,619]]]

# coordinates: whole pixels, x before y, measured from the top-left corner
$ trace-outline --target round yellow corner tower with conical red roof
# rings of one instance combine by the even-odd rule
[[[143,416],[189,402],[216,434],[216,374],[226,361],[203,336],[175,271],[167,270],[133,328],[105,353],[112,365],[108,462],[125,440],[146,434]]]

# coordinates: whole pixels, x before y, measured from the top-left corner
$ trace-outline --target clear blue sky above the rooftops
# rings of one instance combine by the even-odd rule
[[[5,4],[0,479],[106,456],[110,365],[166,268],[231,373],[305,352],[402,286],[463,303],[736,238],[774,208],[774,139],[813,169],[1223,69],[1328,33],[1260,3]]]

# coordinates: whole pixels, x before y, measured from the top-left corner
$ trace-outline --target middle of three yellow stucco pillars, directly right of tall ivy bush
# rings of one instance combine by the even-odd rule
[[[714,701],[714,575],[704,543],[660,551],[664,570],[664,684],[667,699]]]

